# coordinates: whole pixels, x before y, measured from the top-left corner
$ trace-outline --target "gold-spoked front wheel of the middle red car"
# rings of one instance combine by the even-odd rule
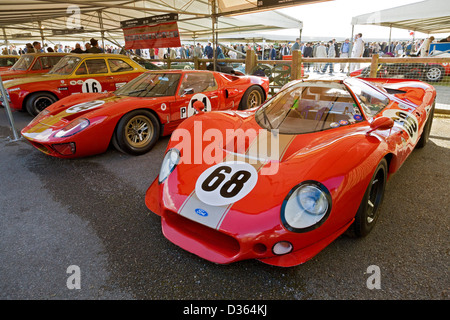
[[[118,151],[131,155],[149,152],[159,139],[158,119],[147,110],[135,110],[125,114],[117,124],[112,138]]]

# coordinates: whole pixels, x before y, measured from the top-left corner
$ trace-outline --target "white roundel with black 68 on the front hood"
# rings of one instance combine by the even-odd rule
[[[223,206],[245,197],[257,181],[258,172],[250,164],[223,162],[208,168],[198,177],[195,193],[206,204]]]

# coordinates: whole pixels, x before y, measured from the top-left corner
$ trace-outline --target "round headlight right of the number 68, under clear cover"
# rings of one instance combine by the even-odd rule
[[[281,207],[281,221],[293,232],[307,232],[319,227],[331,211],[331,195],[317,181],[304,181],[286,196]]]

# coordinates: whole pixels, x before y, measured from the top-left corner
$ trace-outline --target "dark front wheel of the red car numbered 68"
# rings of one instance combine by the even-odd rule
[[[352,224],[353,234],[356,237],[365,237],[372,231],[378,220],[379,209],[384,197],[387,180],[387,161],[381,160],[364,193]]]

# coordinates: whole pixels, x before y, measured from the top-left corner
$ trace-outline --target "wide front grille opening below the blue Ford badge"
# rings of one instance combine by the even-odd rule
[[[232,258],[240,251],[239,242],[220,231],[189,220],[172,211],[165,212],[166,223],[180,234],[194,239],[211,251]]]

